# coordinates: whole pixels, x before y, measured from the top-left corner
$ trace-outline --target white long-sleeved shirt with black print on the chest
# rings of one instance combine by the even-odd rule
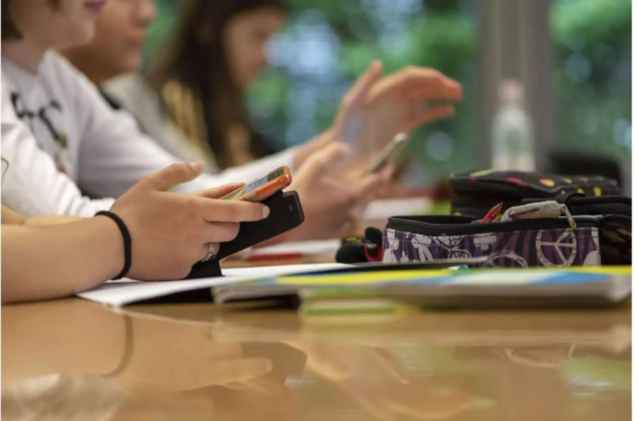
[[[9,162],[2,204],[25,215],[92,216],[136,181],[179,159],[162,150],[125,111],[114,111],[72,64],[47,52],[37,74],[2,59],[0,155]],[[276,167],[286,150],[177,187],[197,191],[247,182]],[[103,199],[91,199],[84,193]],[[104,198],[106,197],[106,198]]]

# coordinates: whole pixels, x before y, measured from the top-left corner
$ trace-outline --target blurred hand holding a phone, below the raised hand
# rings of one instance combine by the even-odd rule
[[[291,190],[296,190],[306,219],[303,224],[278,240],[309,240],[338,237],[352,228],[386,174],[351,175],[337,178],[333,169],[347,150],[332,142],[308,158],[293,175]]]

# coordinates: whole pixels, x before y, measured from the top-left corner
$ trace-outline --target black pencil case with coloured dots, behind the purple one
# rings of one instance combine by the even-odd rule
[[[503,203],[505,211],[527,198],[547,200],[571,193],[593,197],[620,193],[617,182],[603,176],[561,176],[492,169],[452,174],[449,183],[453,193],[452,214],[474,218],[481,218],[496,203]]]

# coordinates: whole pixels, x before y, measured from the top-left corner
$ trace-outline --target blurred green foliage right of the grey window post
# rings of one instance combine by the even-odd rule
[[[556,1],[551,13],[557,47],[554,91],[559,145],[627,162],[631,0]]]

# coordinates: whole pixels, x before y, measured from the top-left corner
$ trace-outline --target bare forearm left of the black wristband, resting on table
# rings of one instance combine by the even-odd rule
[[[123,266],[117,225],[100,216],[46,227],[2,225],[2,301],[69,296]]]

